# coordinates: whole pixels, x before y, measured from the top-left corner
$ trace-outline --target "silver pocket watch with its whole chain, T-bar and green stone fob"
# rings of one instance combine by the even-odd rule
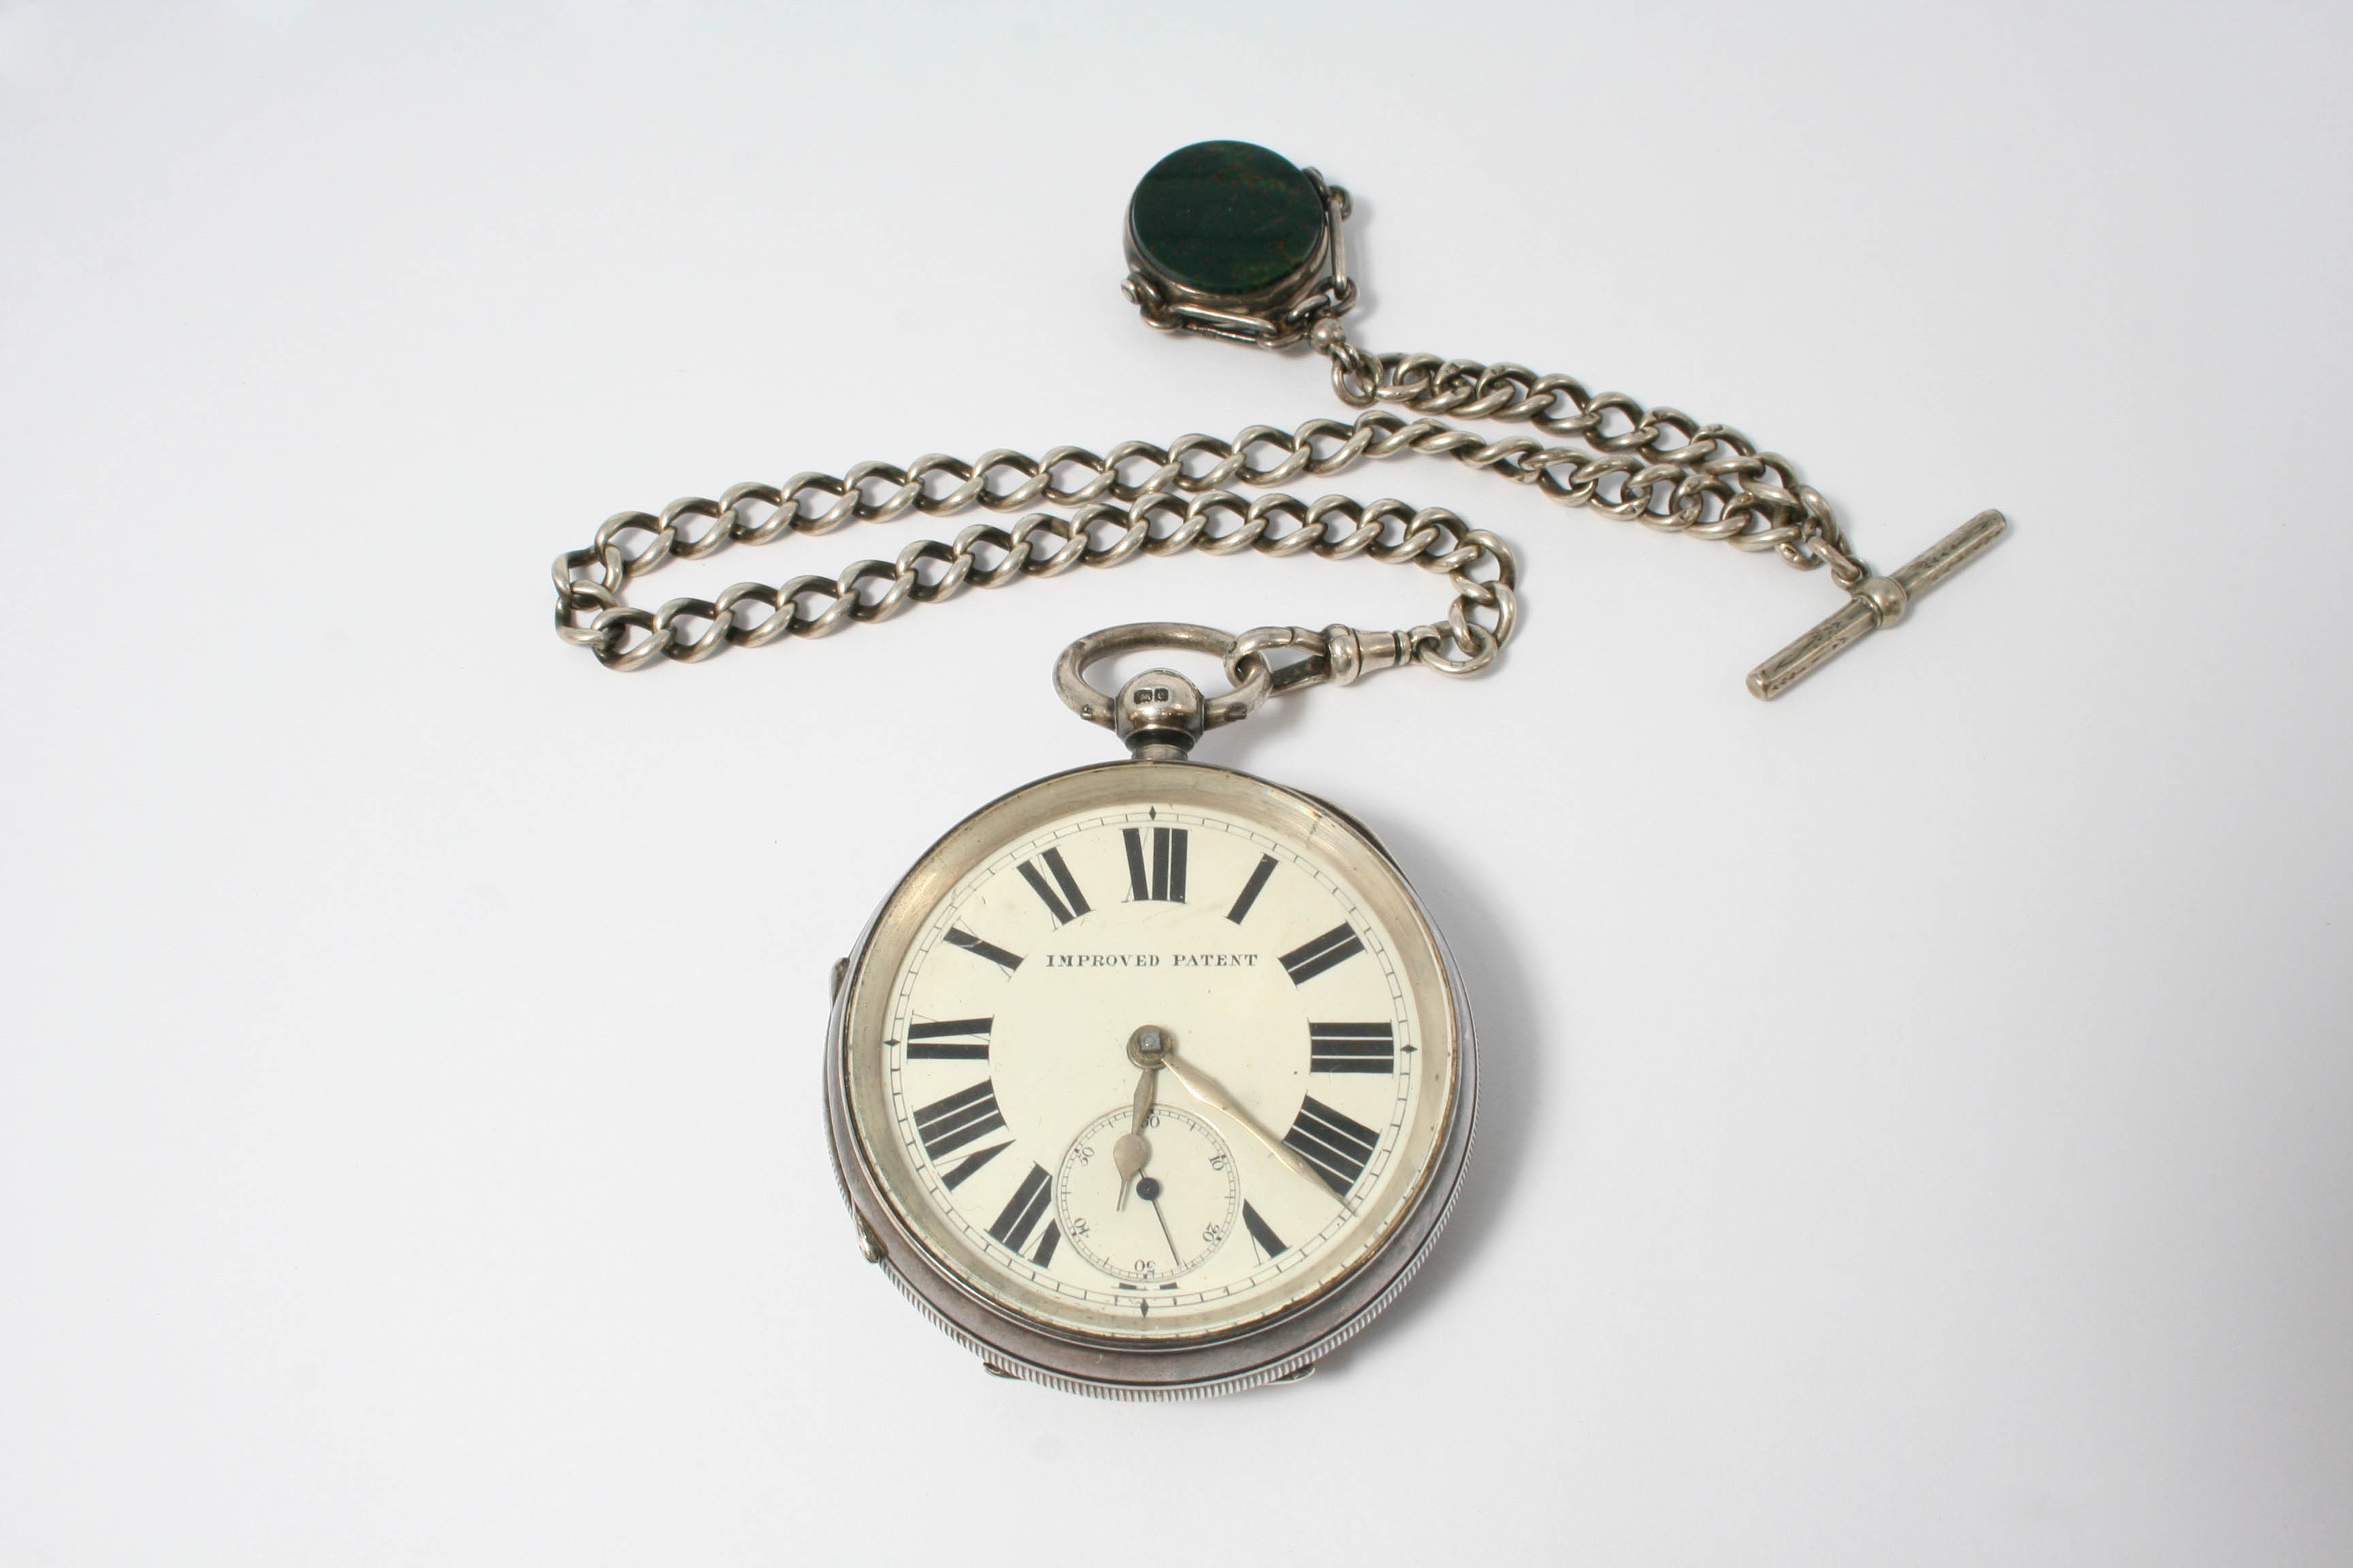
[[[1297,1380],[1405,1288],[1457,1201],[1478,1070],[1435,924],[1341,806],[1191,750],[1275,696],[1487,670],[1518,630],[1515,557],[1445,508],[1278,487],[1447,456],[1562,505],[1828,567],[1845,602],[1748,675],[1760,698],[1894,625],[2007,527],[1979,512],[1882,576],[1788,458],[1727,425],[1518,364],[1367,353],[1341,327],[1358,299],[1348,209],[1344,188],[1266,148],[1181,148],[1129,200],[1125,287],[1165,331],[1322,355],[1353,421],[800,473],[616,512],[555,559],[558,632],[614,670],[1184,550],[1367,557],[1445,581],[1442,618],[1407,630],[1080,637],[1054,689],[1129,757],[960,820],[835,966],[826,1135],[859,1248],[1007,1378],[1113,1399]],[[831,578],[626,599],[673,557],[967,510],[1019,520]],[[1092,684],[1094,665],[1141,651],[1217,658],[1231,689],[1174,670]]]

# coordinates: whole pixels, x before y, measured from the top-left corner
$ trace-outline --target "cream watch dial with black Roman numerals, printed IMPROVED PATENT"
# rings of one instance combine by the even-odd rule
[[[1139,795],[969,846],[866,980],[852,1081],[894,1208],[967,1288],[1160,1340],[1297,1307],[1379,1248],[1454,1039],[1433,940],[1360,837]],[[1172,1063],[1129,1182],[1146,1025]]]

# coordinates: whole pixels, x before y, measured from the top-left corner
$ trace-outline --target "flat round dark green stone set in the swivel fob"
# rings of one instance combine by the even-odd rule
[[[1247,141],[1195,141],[1153,165],[1127,205],[1146,266],[1202,294],[1271,289],[1315,254],[1315,181]]]

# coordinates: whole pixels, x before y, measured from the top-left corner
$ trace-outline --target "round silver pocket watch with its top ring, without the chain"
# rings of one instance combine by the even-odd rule
[[[1240,717],[1174,670],[1200,625],[1080,639],[1064,691],[1132,759],[1024,785],[934,844],[842,961],[826,1126],[861,1246],[991,1366],[1089,1394],[1297,1375],[1372,1321],[1471,1147],[1471,1013],[1346,811],[1188,762]]]

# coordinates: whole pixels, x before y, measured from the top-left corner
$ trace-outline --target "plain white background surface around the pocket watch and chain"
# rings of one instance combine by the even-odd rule
[[[1635,9],[0,5],[0,1561],[2348,1561],[2353,26]],[[1438,583],[621,677],[546,562],[1339,414],[1118,294],[1202,136],[1358,193],[1362,343],[1729,421],[1880,567],[2014,536],[1762,705],[1821,574],[1339,480],[1511,538],[1520,639],[1202,755],[1414,872],[1473,1185],[1318,1380],[1139,1408],[859,1262],[826,969],[1113,755],[1078,632]]]

